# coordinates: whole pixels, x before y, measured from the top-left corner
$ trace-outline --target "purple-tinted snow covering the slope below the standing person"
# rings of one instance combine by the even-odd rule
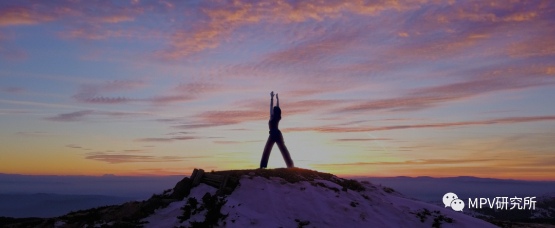
[[[336,177],[334,180],[344,181]],[[250,173],[241,177],[233,193],[220,198],[225,204],[221,206],[221,218],[214,224],[217,227],[497,227],[450,208],[407,199],[371,183],[362,183],[362,187],[360,191],[350,190],[323,179],[290,183],[279,177]],[[188,198],[143,219],[148,221],[144,227],[200,227],[195,224],[206,220],[207,210],[180,220],[178,216],[184,214],[181,208],[191,198],[200,205],[206,193],[214,195],[216,190],[200,184],[191,189]]]

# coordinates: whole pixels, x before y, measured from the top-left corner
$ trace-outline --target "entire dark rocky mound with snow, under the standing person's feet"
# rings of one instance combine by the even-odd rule
[[[218,175],[226,177],[219,189],[210,180]],[[148,200],[4,227],[497,227],[390,188],[312,170],[229,170],[200,177],[206,180],[184,178]],[[226,185],[228,179],[235,184]]]

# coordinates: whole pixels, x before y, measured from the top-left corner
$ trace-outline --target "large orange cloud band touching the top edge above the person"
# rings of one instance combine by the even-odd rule
[[[378,15],[387,10],[407,11],[420,7],[420,1],[263,1],[258,3],[234,1],[231,4],[206,2],[202,11],[208,22],[191,30],[179,30],[172,37],[169,48],[158,51],[161,59],[179,59],[205,49],[213,49],[228,39],[237,28],[246,24],[296,23],[307,20],[339,18],[355,13]]]

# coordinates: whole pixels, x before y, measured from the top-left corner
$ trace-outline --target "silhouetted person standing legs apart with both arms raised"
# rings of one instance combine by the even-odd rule
[[[268,166],[268,159],[270,158],[270,152],[272,151],[272,147],[274,147],[274,143],[278,144],[278,148],[281,151],[281,156],[285,160],[285,164],[287,164],[287,168],[293,168],[293,160],[291,160],[291,156],[289,155],[289,151],[287,151],[287,147],[285,147],[285,143],[283,142],[283,136],[281,135],[281,131],[278,129],[279,121],[281,120],[281,109],[279,108],[279,97],[276,94],[276,106],[274,106],[274,91],[270,93],[272,99],[270,101],[270,121],[268,121],[268,126],[270,127],[270,136],[268,137],[268,141],[266,141],[266,146],[264,147],[264,153],[262,153],[262,160],[260,161],[260,168],[266,168]]]

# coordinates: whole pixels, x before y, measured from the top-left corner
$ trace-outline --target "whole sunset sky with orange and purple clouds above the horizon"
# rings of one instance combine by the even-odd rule
[[[0,173],[258,168],[270,91],[296,167],[555,180],[555,1],[0,2]]]

